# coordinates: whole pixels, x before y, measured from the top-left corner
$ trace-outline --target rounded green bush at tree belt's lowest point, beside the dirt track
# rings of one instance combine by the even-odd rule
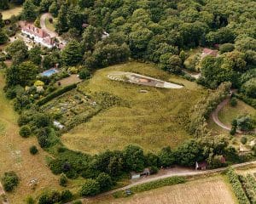
[[[100,192],[100,184],[94,179],[87,179],[80,190],[80,195],[81,196],[97,195],[99,192]]]

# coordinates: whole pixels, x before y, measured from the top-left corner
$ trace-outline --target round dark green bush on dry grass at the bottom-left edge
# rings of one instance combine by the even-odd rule
[[[12,191],[19,184],[19,178],[15,172],[7,172],[3,174],[2,178],[3,189]]]

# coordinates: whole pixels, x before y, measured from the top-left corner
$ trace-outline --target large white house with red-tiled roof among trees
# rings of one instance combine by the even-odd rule
[[[44,47],[53,48],[55,47],[55,41],[53,37],[49,36],[49,33],[41,28],[34,26],[31,23],[21,22],[21,33],[31,38],[34,42],[38,42]]]

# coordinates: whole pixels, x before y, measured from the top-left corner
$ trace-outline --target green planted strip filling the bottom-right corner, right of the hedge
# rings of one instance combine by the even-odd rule
[[[246,177],[240,175],[239,179],[248,199],[251,201],[251,203],[256,203],[256,184],[253,176],[250,174],[248,174]]]

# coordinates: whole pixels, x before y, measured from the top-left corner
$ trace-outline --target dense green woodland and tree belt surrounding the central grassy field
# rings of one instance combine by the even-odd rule
[[[7,1],[0,8],[8,5]],[[8,23],[0,21],[0,43],[15,34],[18,20],[37,25],[39,14],[45,12],[55,17],[55,30],[67,40],[67,46],[63,50],[38,46],[28,50],[25,42],[17,40],[9,44],[7,54],[1,59],[13,62],[6,68],[5,91],[9,99],[15,100],[15,110],[20,113],[20,135],[35,134],[42,148],[55,148],[50,150],[55,159],[49,159],[49,167],[53,173],[61,174],[62,185],[67,183],[67,178],[90,178],[80,194],[95,195],[109,190],[124,173],[142,171],[144,167],[151,167],[155,172],[159,167],[193,166],[195,161],[205,160],[210,167],[222,167],[221,156],[228,163],[248,159],[238,156],[225,139],[209,139],[205,122],[230,88],[238,90],[237,97],[256,106],[256,3],[253,0],[26,0],[20,16],[12,17]],[[102,37],[105,31],[109,37]],[[201,61],[191,58],[189,50],[198,47],[218,48],[218,56],[207,56]],[[53,84],[65,77],[67,71],[79,72],[81,78],[88,79],[96,69],[129,59],[153,62],[160,69],[189,80],[193,79],[184,70],[201,71],[196,82],[216,91],[191,111],[187,128],[195,134],[195,139],[177,150],[165,147],[157,154],[143,153],[133,145],[123,151],[107,151],[96,156],[67,150],[59,139],[61,133],[52,126],[53,118],[40,112],[38,99],[51,99],[63,93],[55,90]],[[66,72],[52,78],[37,77],[39,72],[55,64]],[[32,86],[36,82],[45,84],[44,93],[38,93],[36,85]],[[31,87],[25,90],[26,86]],[[54,91],[54,96],[50,95]],[[50,202],[51,196],[42,195],[39,203],[54,203]]]

